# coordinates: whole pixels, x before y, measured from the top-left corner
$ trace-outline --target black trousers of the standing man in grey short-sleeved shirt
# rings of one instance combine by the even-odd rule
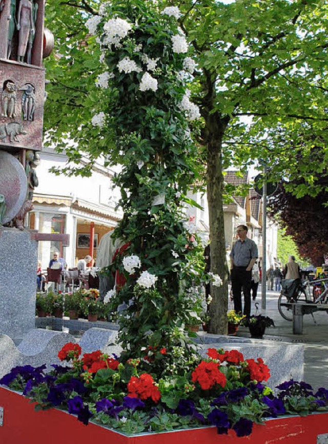
[[[244,294],[243,314],[251,315],[251,280],[252,271],[246,271],[247,267],[234,267],[231,271],[231,286],[234,297],[234,308],[236,313],[242,313],[241,289]]]

